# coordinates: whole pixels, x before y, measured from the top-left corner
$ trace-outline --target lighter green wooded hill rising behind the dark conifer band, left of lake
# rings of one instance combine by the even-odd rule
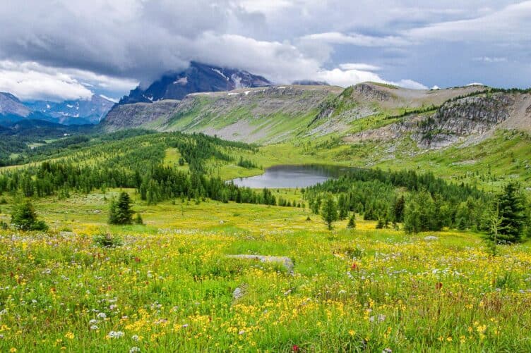
[[[20,137],[17,137],[20,139]],[[101,165],[119,165],[122,161],[142,161],[142,163],[162,163],[164,151],[170,147],[177,147],[181,154],[186,155],[189,159],[187,162],[193,164],[192,169],[201,171],[203,166],[197,163],[200,159],[210,157],[221,160],[236,160],[232,153],[227,151],[256,151],[257,147],[243,142],[231,142],[221,140],[217,137],[211,137],[203,134],[187,135],[181,132],[157,133],[150,130],[132,129],[119,132],[112,132],[105,135],[75,135],[61,138],[54,142],[44,143],[42,146],[29,148],[28,143],[37,140],[20,139],[0,142],[0,163],[1,166],[17,165],[31,162],[44,161],[49,158],[65,159],[66,161],[79,162],[87,160],[97,160]],[[16,142],[16,143],[15,143]],[[155,155],[148,149],[158,149],[157,159],[153,160]],[[222,152],[225,150],[225,152]],[[147,152],[150,158],[138,159],[138,156],[129,154],[143,154]],[[13,158],[16,154],[16,158]],[[114,159],[111,163],[110,159]],[[186,158],[185,157],[185,158]]]

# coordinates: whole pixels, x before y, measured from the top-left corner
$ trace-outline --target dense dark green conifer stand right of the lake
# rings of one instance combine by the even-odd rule
[[[491,196],[463,183],[457,185],[432,173],[384,172],[354,169],[336,180],[304,190],[304,198],[314,213],[321,209],[326,194],[335,194],[339,218],[350,212],[384,226],[404,223],[417,232],[443,227],[479,229],[484,204]]]

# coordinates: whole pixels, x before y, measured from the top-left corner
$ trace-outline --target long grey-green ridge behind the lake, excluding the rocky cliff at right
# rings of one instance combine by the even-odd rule
[[[415,111],[434,114],[446,101],[484,89],[487,87],[416,90],[366,82],[347,89],[287,85],[196,93],[181,101],[116,105],[102,120],[102,128],[204,132],[260,143],[333,134],[348,141],[359,139],[357,133],[389,128],[397,123],[393,116],[403,115],[402,121]],[[364,121],[367,123],[358,128]]]

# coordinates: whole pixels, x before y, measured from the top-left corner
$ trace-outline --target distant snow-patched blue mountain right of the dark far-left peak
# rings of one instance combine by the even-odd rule
[[[39,112],[53,121],[64,125],[97,124],[112,109],[114,102],[94,94],[90,99],[74,101],[33,101],[27,104],[32,111]]]

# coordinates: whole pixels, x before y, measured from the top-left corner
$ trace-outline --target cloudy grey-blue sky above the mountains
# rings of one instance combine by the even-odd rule
[[[278,84],[531,86],[531,1],[4,0],[0,92],[119,99],[190,61]]]

